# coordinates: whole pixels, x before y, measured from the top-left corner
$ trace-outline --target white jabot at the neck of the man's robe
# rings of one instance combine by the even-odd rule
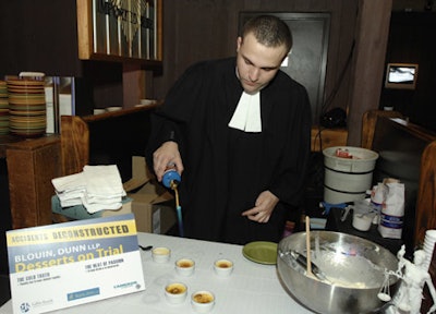
[[[259,92],[253,95],[242,92],[237,109],[228,125],[245,132],[262,132]]]

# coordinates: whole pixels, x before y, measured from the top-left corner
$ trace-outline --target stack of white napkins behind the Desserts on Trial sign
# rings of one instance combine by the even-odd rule
[[[89,214],[119,209],[126,195],[117,165],[85,166],[83,171],[51,180],[61,206],[83,205]]]

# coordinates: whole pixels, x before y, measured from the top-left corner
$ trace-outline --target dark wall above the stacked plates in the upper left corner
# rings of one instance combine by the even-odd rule
[[[75,0],[1,1],[0,74],[81,76]],[[3,10],[1,10],[3,9]]]

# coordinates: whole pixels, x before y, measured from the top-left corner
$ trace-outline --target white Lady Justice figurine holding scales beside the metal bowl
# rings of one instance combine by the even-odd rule
[[[436,290],[433,286],[432,277],[423,267],[426,254],[423,250],[415,251],[413,253],[413,263],[411,263],[404,258],[404,245],[402,245],[401,250],[397,254],[399,259],[397,274],[402,281],[392,300],[393,306],[390,306],[387,313],[420,314],[424,285],[428,286],[434,303],[427,313],[433,313],[436,310]]]

